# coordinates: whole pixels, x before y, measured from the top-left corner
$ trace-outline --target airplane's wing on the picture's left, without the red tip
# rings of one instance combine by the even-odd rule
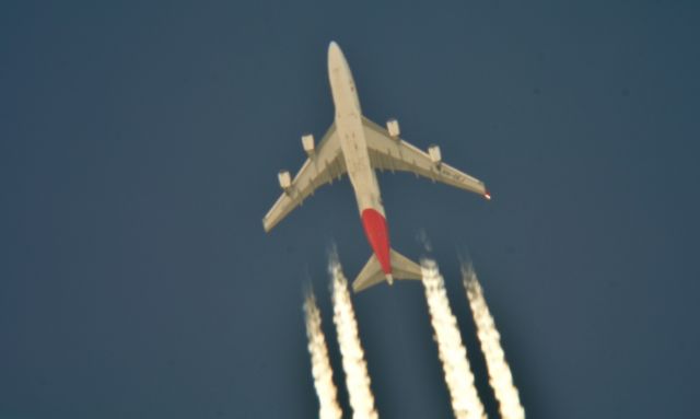
[[[332,183],[346,173],[346,162],[340,150],[340,139],[336,125],[331,125],[302,168],[300,168],[289,188],[262,219],[266,232],[272,230],[288,213],[312,195],[317,187]]]

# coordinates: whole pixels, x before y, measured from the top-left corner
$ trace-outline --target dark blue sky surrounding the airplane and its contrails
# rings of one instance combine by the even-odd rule
[[[271,234],[276,174],[331,123],[331,39],[366,116],[493,201],[383,175],[421,231],[491,417],[468,252],[530,418],[697,415],[695,1],[3,2],[0,418],[308,418],[311,278],[346,414],[326,253],[370,255],[347,181]],[[354,299],[380,415],[452,415],[419,283]]]

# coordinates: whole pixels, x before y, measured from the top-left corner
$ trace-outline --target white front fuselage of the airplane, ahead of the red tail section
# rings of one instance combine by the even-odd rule
[[[371,208],[384,217],[380,186],[364,138],[358,91],[348,61],[335,43],[328,48],[328,77],[336,106],[336,130],[360,213]]]

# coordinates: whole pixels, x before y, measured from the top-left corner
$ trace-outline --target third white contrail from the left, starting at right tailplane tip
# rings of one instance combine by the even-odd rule
[[[434,260],[423,259],[421,270],[430,322],[435,331],[438,352],[452,398],[452,410],[457,419],[483,419],[483,405],[474,386],[467,349],[462,342],[457,319],[450,307],[445,282]]]

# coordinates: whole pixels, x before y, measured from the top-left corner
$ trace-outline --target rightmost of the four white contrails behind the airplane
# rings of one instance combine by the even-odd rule
[[[524,419],[525,409],[521,405],[517,388],[513,384],[511,369],[505,362],[505,354],[501,347],[501,335],[495,329],[493,317],[486,305],[486,299],[477,275],[471,266],[463,266],[462,277],[464,287],[467,290],[467,299],[469,299],[474,322],[477,325],[481,351],[489,370],[489,383],[493,388],[497,400],[499,400],[501,418]]]

